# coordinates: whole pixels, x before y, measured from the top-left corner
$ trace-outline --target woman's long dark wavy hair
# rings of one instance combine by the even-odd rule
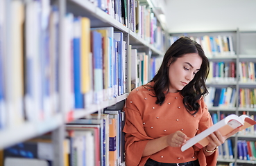
[[[189,113],[194,115],[200,105],[198,100],[208,94],[207,88],[205,86],[205,81],[209,74],[209,60],[205,56],[203,48],[191,40],[189,37],[180,37],[174,42],[164,55],[162,65],[153,80],[150,82],[155,82],[153,87],[155,97],[157,98],[156,104],[162,105],[165,100],[165,95],[169,91],[169,65],[182,57],[185,54],[198,53],[202,58],[202,64],[200,70],[194,76],[194,79],[189,82],[182,90],[180,94],[183,96],[183,104]]]

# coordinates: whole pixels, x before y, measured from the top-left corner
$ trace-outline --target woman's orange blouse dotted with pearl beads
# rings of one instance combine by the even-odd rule
[[[153,85],[153,83],[150,83]],[[205,156],[203,149],[191,147],[181,151],[180,147],[166,147],[151,156],[142,157],[148,140],[169,135],[178,130],[188,137],[212,126],[212,118],[203,98],[199,101],[200,109],[195,116],[184,107],[180,93],[168,93],[164,103],[155,104],[153,91],[139,86],[128,95],[126,100],[126,166],[145,165],[148,158],[161,163],[185,163],[198,158],[201,166],[216,165],[218,152]]]

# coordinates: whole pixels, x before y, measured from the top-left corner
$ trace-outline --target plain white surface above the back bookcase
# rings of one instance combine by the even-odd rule
[[[169,33],[256,30],[256,0],[165,0]]]

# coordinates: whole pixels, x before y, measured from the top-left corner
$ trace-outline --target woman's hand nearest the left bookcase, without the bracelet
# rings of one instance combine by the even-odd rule
[[[187,140],[189,140],[189,137],[187,137],[185,133],[182,133],[182,131],[176,131],[167,136],[167,144],[170,147],[181,147],[185,145]]]

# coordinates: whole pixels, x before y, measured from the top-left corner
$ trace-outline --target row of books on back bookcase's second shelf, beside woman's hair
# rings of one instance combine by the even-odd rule
[[[210,62],[210,72],[207,83],[214,82],[235,82],[236,80],[235,62]]]

